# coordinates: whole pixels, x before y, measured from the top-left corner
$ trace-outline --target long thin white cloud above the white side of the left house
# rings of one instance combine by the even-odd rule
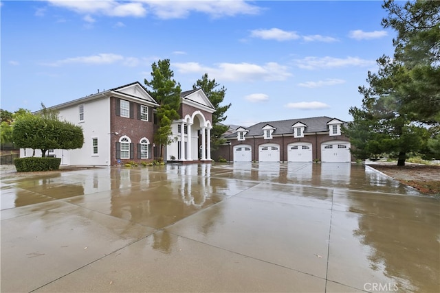
[[[44,63],[43,65],[52,67],[58,67],[66,64],[108,65],[115,62],[122,62],[122,65],[133,67],[139,63],[139,60],[134,57],[124,57],[118,54],[98,54],[92,56],[66,58],[52,63]]]

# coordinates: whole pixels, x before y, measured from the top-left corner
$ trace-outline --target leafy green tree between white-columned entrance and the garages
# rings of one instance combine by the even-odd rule
[[[192,89],[202,89],[206,97],[210,100],[212,106],[215,108],[215,112],[212,113],[212,130],[211,130],[211,150],[217,150],[221,144],[225,142],[225,139],[221,139],[221,135],[228,130],[228,126],[220,124],[221,121],[225,121],[227,116],[225,116],[226,111],[231,106],[220,105],[225,99],[225,86],[217,89],[219,84],[215,80],[210,80],[208,78],[208,73],[205,73],[201,80],[197,80],[195,84],[192,85]]]

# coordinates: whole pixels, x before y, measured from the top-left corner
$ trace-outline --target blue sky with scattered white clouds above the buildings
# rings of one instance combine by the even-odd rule
[[[169,59],[182,91],[204,73],[225,124],[351,121],[358,86],[393,55],[382,1],[1,1],[3,110],[39,110],[151,80]]]

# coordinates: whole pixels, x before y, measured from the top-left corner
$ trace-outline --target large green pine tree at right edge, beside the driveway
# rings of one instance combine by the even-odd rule
[[[395,152],[397,165],[405,165],[408,152],[428,150],[428,139],[438,133],[439,3],[384,3],[388,18],[382,25],[398,33],[393,40],[395,56],[377,60],[379,71],[369,72],[369,86],[359,89],[362,108],[350,108],[353,121],[346,133],[355,156],[366,159]]]

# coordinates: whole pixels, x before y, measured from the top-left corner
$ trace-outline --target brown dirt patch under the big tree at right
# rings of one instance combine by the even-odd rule
[[[419,190],[440,197],[440,165],[370,165],[378,171]]]

